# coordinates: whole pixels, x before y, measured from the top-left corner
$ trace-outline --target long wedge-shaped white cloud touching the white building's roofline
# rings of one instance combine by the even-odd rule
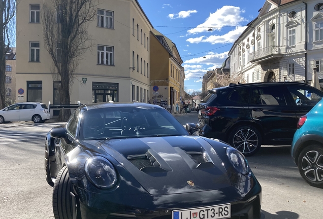
[[[239,35],[246,29],[246,26],[236,27],[236,29],[225,33],[224,35],[211,35],[204,39],[205,36],[200,36],[198,38],[189,38],[186,41],[189,43],[210,43],[210,44],[225,44],[234,43]]]

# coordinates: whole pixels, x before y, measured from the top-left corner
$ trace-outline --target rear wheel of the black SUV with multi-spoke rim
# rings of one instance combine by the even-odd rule
[[[261,147],[262,136],[253,126],[238,126],[232,130],[229,143],[244,156],[252,156]]]

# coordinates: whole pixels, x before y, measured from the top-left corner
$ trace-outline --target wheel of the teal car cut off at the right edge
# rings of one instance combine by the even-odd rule
[[[309,185],[323,188],[323,147],[312,144],[303,149],[298,157],[298,170]]]

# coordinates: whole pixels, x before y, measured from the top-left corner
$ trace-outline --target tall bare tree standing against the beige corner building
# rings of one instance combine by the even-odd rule
[[[93,46],[87,29],[96,15],[97,5],[96,0],[44,1],[41,18],[45,49],[53,61],[53,80],[60,81],[62,104],[70,104],[71,87],[79,60]],[[66,121],[70,115],[70,110],[61,110],[58,120]]]

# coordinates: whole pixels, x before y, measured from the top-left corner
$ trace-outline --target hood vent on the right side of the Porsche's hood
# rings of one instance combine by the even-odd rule
[[[213,168],[215,165],[206,152],[186,152],[174,148],[191,169]]]

